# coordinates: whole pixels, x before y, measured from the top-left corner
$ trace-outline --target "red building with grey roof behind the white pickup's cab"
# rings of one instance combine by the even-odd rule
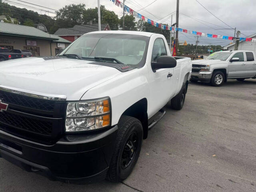
[[[111,30],[108,24],[101,24],[101,30]],[[98,24],[90,24],[88,25],[75,25],[72,28],[59,28],[54,35],[58,35],[61,38],[64,38],[70,42],[73,42],[83,34],[88,32],[98,31]]]

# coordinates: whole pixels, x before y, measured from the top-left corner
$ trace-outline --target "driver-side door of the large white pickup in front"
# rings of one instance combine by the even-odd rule
[[[162,38],[156,38],[154,41],[151,61],[157,60],[160,56],[167,55],[166,45]],[[153,72],[151,64],[148,64],[150,76],[150,110],[148,116],[154,115],[170,99],[173,90],[173,68],[158,69]]]

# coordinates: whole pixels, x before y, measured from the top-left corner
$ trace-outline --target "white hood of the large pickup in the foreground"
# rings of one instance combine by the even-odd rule
[[[22,58],[0,63],[0,85],[28,92],[65,95],[80,100],[90,88],[122,72],[93,61],[58,58]]]

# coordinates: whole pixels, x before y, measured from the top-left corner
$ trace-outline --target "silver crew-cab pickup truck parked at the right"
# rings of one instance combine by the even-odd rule
[[[227,79],[243,81],[256,78],[256,61],[253,51],[219,51],[205,60],[192,61],[192,82],[210,82],[221,86]]]

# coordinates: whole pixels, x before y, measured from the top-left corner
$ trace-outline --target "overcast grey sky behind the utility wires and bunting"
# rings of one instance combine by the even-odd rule
[[[67,4],[84,3],[87,8],[93,8],[97,6],[97,0],[23,0],[33,4],[45,6],[53,9],[60,9]],[[120,0],[121,2],[123,0]],[[256,0],[198,0],[204,7],[206,7],[215,16],[220,18],[223,22],[231,26],[236,27],[245,35],[251,35],[256,33]],[[12,2],[19,2],[18,0],[12,0]],[[126,0],[125,4],[137,11],[147,6],[154,0]],[[119,17],[122,16],[122,9],[117,7],[110,0],[100,0],[100,4],[104,5],[108,10],[114,11]],[[14,4],[12,4],[14,5]],[[29,5],[29,4],[28,4]],[[17,5],[15,5],[17,6]],[[32,5],[30,5],[32,6]],[[21,7],[21,6],[20,6]],[[29,9],[29,8],[27,8]],[[45,8],[42,8],[45,9]],[[52,10],[51,10],[52,11]],[[160,22],[159,18],[162,18],[172,12],[176,11],[176,0],[156,0],[150,6],[146,7],[146,10],[138,11],[143,16],[150,18],[156,22]],[[38,12],[44,14],[44,12]],[[150,14],[151,13],[151,14]],[[153,14],[153,15],[152,15]],[[186,14],[188,16],[185,16]],[[193,18],[196,19],[193,19]],[[168,18],[168,17],[166,17]],[[161,21],[164,21],[164,18]],[[173,15],[172,23],[176,22],[176,14]],[[229,28],[226,24],[221,22],[205,10],[196,0],[180,0],[180,16],[179,27],[187,30],[194,30],[203,33],[234,36],[234,30],[216,30],[220,28]],[[208,22],[208,23],[207,23]],[[171,19],[164,21],[164,23],[171,24]],[[245,37],[241,35],[240,37]],[[195,35],[179,33],[179,40],[186,40],[190,44],[195,44]],[[230,43],[229,40],[215,39],[201,37],[199,44],[220,44],[222,46]]]

